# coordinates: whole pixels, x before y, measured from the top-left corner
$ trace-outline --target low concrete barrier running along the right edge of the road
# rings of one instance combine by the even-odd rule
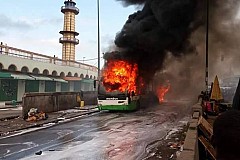
[[[192,118],[183,145],[183,151],[177,160],[199,160],[198,151],[198,120],[202,114],[201,104],[192,107]]]

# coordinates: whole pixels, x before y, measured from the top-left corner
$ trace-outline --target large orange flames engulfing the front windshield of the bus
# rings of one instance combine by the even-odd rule
[[[137,76],[137,64],[123,60],[111,60],[106,63],[103,70],[103,85],[108,92],[115,90],[136,92]]]

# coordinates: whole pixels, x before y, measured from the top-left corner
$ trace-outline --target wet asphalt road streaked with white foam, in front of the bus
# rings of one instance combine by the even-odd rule
[[[0,159],[144,159],[150,144],[186,124],[190,107],[179,101],[130,113],[100,112],[1,139]]]

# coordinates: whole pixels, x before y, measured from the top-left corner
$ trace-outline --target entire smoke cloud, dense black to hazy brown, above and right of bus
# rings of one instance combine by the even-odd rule
[[[146,82],[169,80],[169,99],[189,94],[196,100],[205,89],[207,0],[117,1],[142,10],[129,16],[115,39],[118,52],[105,59],[138,63]],[[240,75],[240,1],[208,1],[210,84],[216,75],[220,81]]]

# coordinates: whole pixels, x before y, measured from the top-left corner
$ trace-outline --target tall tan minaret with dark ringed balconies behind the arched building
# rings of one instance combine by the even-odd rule
[[[79,33],[75,32],[75,15],[79,13],[79,9],[75,7],[76,3],[73,0],[66,0],[65,6],[62,6],[61,12],[64,14],[63,31],[59,33],[63,35],[59,39],[62,43],[62,60],[75,61],[75,45],[79,40],[75,38]]]

